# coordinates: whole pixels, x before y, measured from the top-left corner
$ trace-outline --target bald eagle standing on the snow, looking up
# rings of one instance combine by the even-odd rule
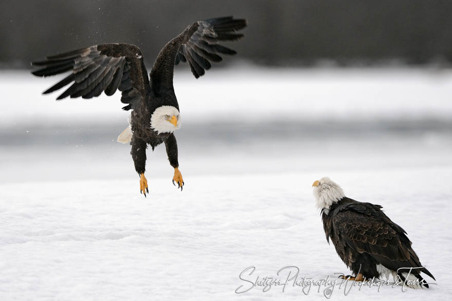
[[[355,275],[344,278],[363,281],[392,274],[412,288],[428,288],[420,273],[435,277],[420,263],[405,230],[383,213],[382,206],[346,197],[328,177],[312,186],[327,241],[331,238],[337,254]]]

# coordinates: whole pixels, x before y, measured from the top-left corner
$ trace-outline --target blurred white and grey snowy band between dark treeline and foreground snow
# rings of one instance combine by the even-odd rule
[[[187,183],[191,175],[212,172],[327,173],[452,163],[448,69],[241,64],[192,77],[176,69],[183,127],[176,136]],[[66,180],[136,177],[130,146],[116,142],[129,114],[118,95],[55,102],[57,95],[40,94],[55,77],[4,71],[0,79],[0,157],[8,170],[0,175],[3,182],[59,180],[62,173]],[[171,179],[163,147],[148,157],[150,177]]]

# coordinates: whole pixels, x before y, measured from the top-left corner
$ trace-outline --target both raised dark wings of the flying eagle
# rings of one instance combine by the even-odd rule
[[[94,45],[49,56],[45,61],[32,63],[40,67],[32,73],[50,76],[71,71],[44,92],[51,93],[72,83],[56,99],[67,96],[91,98],[102,92],[112,95],[120,90],[121,102],[128,104],[123,109],[135,109],[151,89],[154,96],[169,93],[170,97],[175,97],[175,64],[188,62],[193,75],[198,78],[212,67],[212,62],[222,61],[221,54],[235,54],[234,50],[218,43],[243,37],[237,31],[246,26],[245,19],[234,19],[232,16],[198,21],[188,26],[160,51],[150,72],[152,85],[149,85],[140,49],[128,44]]]

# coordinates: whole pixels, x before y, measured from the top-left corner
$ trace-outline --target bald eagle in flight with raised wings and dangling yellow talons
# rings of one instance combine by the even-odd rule
[[[146,148],[152,149],[165,143],[166,153],[174,168],[173,184],[184,186],[178,169],[177,143],[174,131],[181,126],[179,104],[173,88],[174,65],[189,62],[193,75],[198,78],[211,68],[210,62],[222,61],[221,54],[236,54],[219,41],[235,41],[243,37],[237,30],[247,26],[245,19],[232,16],[198,21],[168,42],[158,54],[150,82],[147,77],[141,50],[129,44],[102,44],[49,56],[45,61],[34,62],[41,69],[33,71],[37,76],[49,76],[66,71],[71,73],[43,94],[59,90],[73,82],[58,98],[67,96],[91,98],[102,92],[113,95],[122,92],[124,110],[131,111],[129,127],[118,141],[132,146],[130,154],[135,170],[140,175],[140,192],[148,191],[144,176]]]

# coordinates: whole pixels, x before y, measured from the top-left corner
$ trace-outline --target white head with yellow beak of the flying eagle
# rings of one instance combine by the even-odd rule
[[[173,106],[161,106],[150,116],[150,128],[160,133],[172,133],[181,127],[179,110]]]

